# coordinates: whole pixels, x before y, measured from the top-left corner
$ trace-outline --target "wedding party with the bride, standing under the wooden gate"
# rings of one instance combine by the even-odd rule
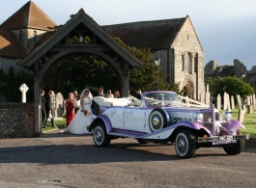
[[[56,127],[54,120],[55,112],[55,94],[53,91],[44,97],[44,91],[42,90],[42,121],[43,128],[46,126],[48,118],[51,120],[52,127]],[[104,94],[103,87],[99,88],[99,96],[119,98],[119,91],[115,91],[114,94],[111,90],[107,90]],[[44,108],[45,106],[45,108]],[[68,98],[65,100],[66,108],[66,123],[67,128],[61,132],[68,132],[72,134],[86,134],[89,133],[87,126],[93,121],[93,95],[89,89],[84,89],[81,94],[77,94],[76,91],[69,93]],[[44,112],[43,112],[44,111]]]

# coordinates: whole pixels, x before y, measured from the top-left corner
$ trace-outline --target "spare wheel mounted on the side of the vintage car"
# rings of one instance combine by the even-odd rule
[[[160,130],[167,126],[167,118],[161,109],[155,109],[151,112],[149,126],[152,132]]]

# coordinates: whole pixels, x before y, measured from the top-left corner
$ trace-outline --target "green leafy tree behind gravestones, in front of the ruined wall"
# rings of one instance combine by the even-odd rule
[[[236,76],[211,77],[207,84],[209,84],[210,93],[213,96],[217,96],[217,94],[223,95],[226,92],[233,96],[240,94],[242,98],[245,98],[247,95],[254,93],[254,89],[248,83],[244,83],[242,78],[237,78]]]

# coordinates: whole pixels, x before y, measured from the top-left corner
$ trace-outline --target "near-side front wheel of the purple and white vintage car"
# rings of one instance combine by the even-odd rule
[[[175,150],[181,158],[192,158],[197,149],[196,135],[188,129],[178,132],[175,139]]]

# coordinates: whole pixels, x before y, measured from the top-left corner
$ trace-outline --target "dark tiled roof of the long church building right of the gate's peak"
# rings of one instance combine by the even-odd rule
[[[101,26],[109,35],[137,48],[169,47],[181,30],[186,17],[140,21]]]

